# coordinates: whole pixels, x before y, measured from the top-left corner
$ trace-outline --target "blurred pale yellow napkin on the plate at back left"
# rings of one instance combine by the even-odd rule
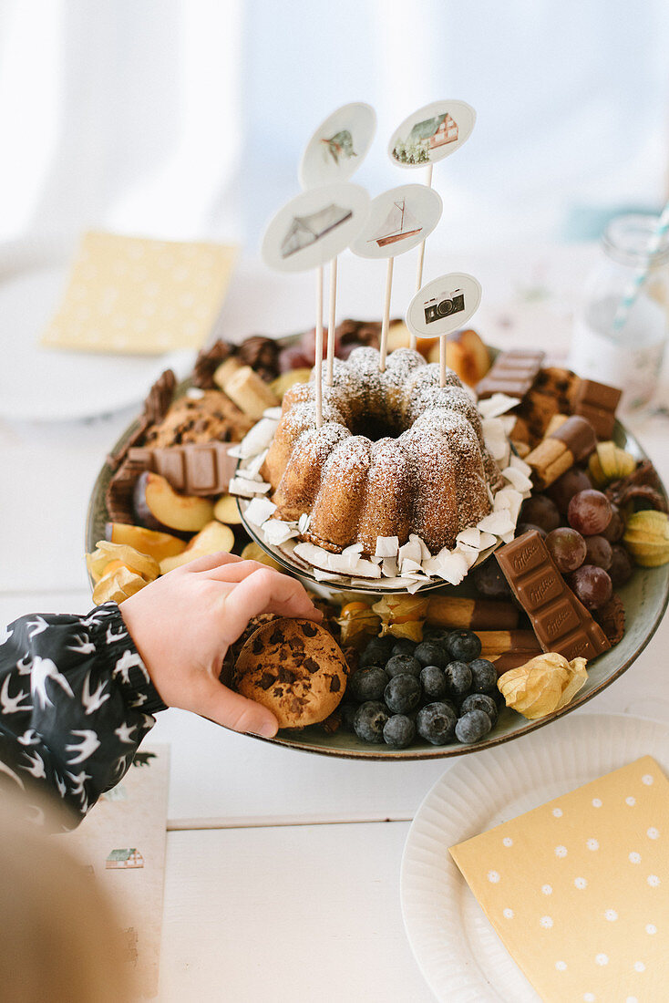
[[[84,235],[41,344],[127,355],[197,350],[211,333],[237,249]]]

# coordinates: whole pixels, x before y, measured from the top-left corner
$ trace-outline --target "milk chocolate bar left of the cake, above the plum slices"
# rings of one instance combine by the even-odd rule
[[[183,494],[222,494],[228,490],[237,459],[228,455],[228,442],[191,442],[156,449],[134,447],[128,458],[159,473]]]

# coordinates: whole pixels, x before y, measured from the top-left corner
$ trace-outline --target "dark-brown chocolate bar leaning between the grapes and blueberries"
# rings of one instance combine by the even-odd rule
[[[537,530],[495,552],[544,651],[588,661],[611,647],[604,631],[568,588]]]

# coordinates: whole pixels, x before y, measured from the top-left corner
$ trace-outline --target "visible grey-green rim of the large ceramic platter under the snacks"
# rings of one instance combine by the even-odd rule
[[[136,427],[130,425],[116,445],[122,443]],[[624,428],[616,423],[615,441],[638,458],[643,458],[643,451],[637,440]],[[111,470],[105,463],[100,470],[88,505],[86,519],[85,546],[87,551],[95,548],[98,540],[104,539],[104,527],[107,513],[104,505],[104,493],[111,478]],[[465,584],[462,587],[465,588]],[[452,589],[444,590],[454,592]],[[463,593],[460,593],[460,595]],[[499,719],[481,742],[475,745],[430,745],[422,740],[407,749],[392,750],[385,745],[371,745],[360,741],[355,735],[339,730],[327,734],[323,728],[312,726],[302,731],[280,731],[271,742],[301,749],[303,752],[318,752],[323,755],[342,756],[350,759],[440,759],[446,756],[465,755],[491,745],[511,741],[519,735],[526,735],[537,728],[543,728],[564,714],[569,714],[576,707],[581,707],[592,700],[594,696],[610,686],[614,680],[623,674],[639,657],[651,637],[657,630],[669,601],[669,564],[662,568],[638,568],[631,581],[619,590],[619,595],[625,604],[626,631],[622,641],[610,651],[591,662],[588,666],[588,682],[577,694],[575,699],[561,711],[539,721],[528,721],[516,711],[505,709]],[[359,597],[357,597],[359,598]],[[267,739],[259,738],[259,741]]]

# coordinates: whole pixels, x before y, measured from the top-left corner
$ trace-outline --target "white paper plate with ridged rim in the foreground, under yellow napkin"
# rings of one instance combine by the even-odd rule
[[[404,926],[443,1003],[541,1003],[485,918],[448,847],[575,787],[654,756],[669,770],[669,728],[625,714],[573,714],[458,760],[418,808],[402,856]]]

